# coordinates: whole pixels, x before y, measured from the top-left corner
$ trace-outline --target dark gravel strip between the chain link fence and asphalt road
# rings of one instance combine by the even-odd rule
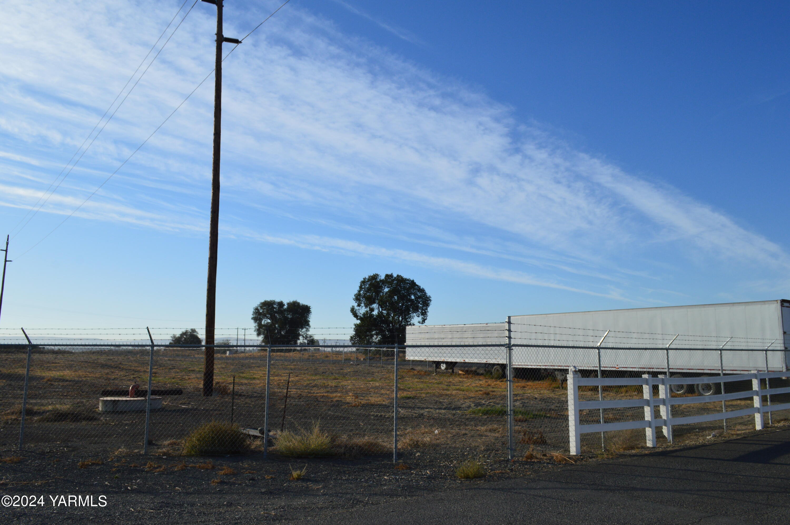
[[[419,458],[413,453],[404,456],[404,464],[408,466],[404,470],[396,469],[392,458],[383,456],[367,459],[296,460],[274,455],[264,459],[260,454],[211,459],[156,456],[85,458],[62,450],[31,452],[24,454],[18,462],[13,462],[12,459],[10,463],[5,461],[0,463],[0,494],[41,495],[44,497],[45,504],[28,508],[0,508],[0,521],[65,524],[86,523],[88,520],[93,520],[97,523],[120,525],[122,523],[185,523],[187,520],[194,523],[281,521],[336,523],[338,520],[348,523],[356,519],[356,523],[372,523],[370,519],[375,517],[374,521],[378,521],[380,512],[385,512],[388,516],[389,514],[397,516],[397,512],[405,512],[406,508],[414,509],[414,512],[406,512],[410,516],[425,516],[417,512],[419,508],[425,511],[442,501],[445,501],[443,504],[445,506],[448,501],[454,502],[453,505],[457,508],[466,509],[465,516],[470,517],[480,513],[480,508],[489,508],[489,505],[483,498],[480,507],[470,506],[471,501],[467,501],[470,497],[469,489],[475,489],[472,490],[474,494],[481,496],[488,494],[488,497],[494,497],[493,494],[501,493],[502,490],[509,491],[514,487],[523,487],[524,483],[540,485],[544,482],[559,482],[566,484],[562,491],[562,497],[566,498],[570,497],[567,491],[568,484],[576,486],[578,491],[585,487],[585,490],[627,493],[639,487],[633,486],[633,481],[629,481],[628,475],[623,472],[617,472],[619,476],[616,478],[617,481],[611,486],[605,486],[607,484],[605,477],[611,474],[607,474],[608,470],[611,470],[612,465],[627,467],[629,463],[636,462],[641,465],[639,462],[647,461],[653,463],[652,466],[641,465],[640,468],[647,469],[648,474],[640,474],[640,483],[645,485],[641,487],[641,491],[651,494],[655,490],[650,488],[649,475],[659,475],[653,472],[657,472],[656,467],[660,467],[662,463],[670,462],[668,467],[673,469],[683,467],[687,471],[694,471],[695,467],[690,462],[704,463],[707,458],[709,461],[705,463],[705,468],[713,464],[715,467],[708,470],[715,478],[727,471],[728,467],[724,466],[717,456],[731,449],[732,446],[729,444],[737,444],[743,440],[773,439],[773,455],[787,459],[787,442],[781,440],[788,437],[790,437],[788,430],[777,432],[777,429],[768,429],[739,440],[705,444],[700,447],[634,452],[609,459],[600,459],[596,456],[574,457],[575,464],[555,463],[549,457],[538,461],[513,463],[506,460],[488,460],[485,462],[487,476],[466,482],[460,482],[455,478],[453,461],[440,454],[434,456],[429,451],[423,451]],[[715,447],[725,452],[716,452]],[[706,452],[710,450],[713,452]],[[691,456],[688,451],[692,451]],[[684,454],[686,456],[683,456]],[[762,458],[759,451],[753,452],[753,456],[754,461],[759,463],[758,459]],[[3,459],[11,457],[13,456],[4,456]],[[80,462],[88,459],[102,463],[89,465],[83,463],[80,467]],[[771,461],[776,460],[774,458]],[[149,461],[151,463],[148,463]],[[751,468],[747,463],[743,463],[740,468]],[[305,478],[299,481],[289,480],[292,467],[305,466],[307,467]],[[786,469],[784,463],[781,467]],[[688,476],[688,474],[683,475]],[[768,489],[776,492],[776,489],[770,487],[772,483],[770,480],[761,483],[763,486],[758,487],[759,489],[766,489],[767,483]],[[599,486],[595,487],[596,484]],[[541,487],[551,489],[551,486]],[[737,488],[743,490],[743,483]],[[672,487],[663,487],[663,489],[671,490]],[[786,488],[782,490],[787,492]],[[690,501],[694,501],[693,484],[683,487],[683,491],[686,497],[690,497]],[[581,497],[579,494],[582,493],[583,491],[578,492],[570,498]],[[107,505],[84,507],[51,504],[50,497],[69,494],[93,495],[94,504],[99,504],[98,497],[103,495],[106,497]],[[550,493],[545,494],[544,497],[551,499]],[[584,500],[583,497],[581,499]],[[453,513],[457,514],[451,509],[447,509],[446,512],[448,519]],[[488,513],[486,511],[483,514],[488,515]],[[403,523],[407,522],[408,520]],[[382,523],[387,523],[387,520]],[[389,519],[389,523],[397,522]],[[461,519],[454,523],[472,522]]]

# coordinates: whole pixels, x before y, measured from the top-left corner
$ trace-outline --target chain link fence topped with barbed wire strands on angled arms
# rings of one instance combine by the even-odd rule
[[[569,453],[569,369],[581,377],[710,377],[708,383],[673,385],[673,398],[751,391],[747,381],[726,383],[722,390],[716,377],[786,369],[784,348],[651,347],[651,341],[625,347],[600,336],[540,345],[514,343],[519,331],[510,328],[510,343],[483,328],[475,343],[457,340],[472,340],[465,331],[405,347],[332,341],[266,347],[252,340],[236,344],[231,333],[214,347],[212,396],[203,389],[205,347],[169,345],[163,333],[78,341],[39,333],[31,334],[31,344],[6,339],[0,344],[0,448],[176,456],[197,429],[217,424],[226,433],[215,441],[232,441],[241,432],[244,447],[284,456],[392,456],[409,463],[529,459]],[[790,381],[776,377],[768,386]],[[583,401],[643,396],[639,386],[579,387]],[[659,396],[657,387],[653,396]],[[765,396],[763,403],[788,403],[788,396]],[[672,415],[737,411],[752,403],[747,397],[679,404]],[[579,416],[581,424],[625,422],[644,418],[643,410],[596,409]],[[775,411],[766,423],[788,416],[788,410]],[[232,435],[228,428],[235,429]],[[754,429],[754,417],[673,428],[675,444],[694,443]],[[668,439],[659,433],[658,442]],[[644,446],[644,429],[581,439],[585,453]]]

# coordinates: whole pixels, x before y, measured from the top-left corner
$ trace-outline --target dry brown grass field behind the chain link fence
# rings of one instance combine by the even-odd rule
[[[18,441],[24,353],[0,354],[0,448]],[[43,352],[32,356],[25,443],[31,448],[128,452],[141,450],[145,413],[104,413],[98,404],[104,389],[145,388],[149,355],[145,351]],[[364,450],[391,453],[393,440],[393,363],[362,354],[329,352],[273,353],[270,372],[269,428],[299,433],[315,425],[333,439],[367,443]],[[181,396],[165,396],[152,413],[151,451],[179,454],[183,439],[206,422],[232,422],[242,427],[264,425],[265,352],[216,355],[216,396],[201,392],[203,358],[198,351],[157,350],[155,389],[182,388]],[[399,448],[421,458],[506,455],[506,383],[462,369],[465,373],[433,374],[420,362],[401,362],[399,382]],[[286,400],[286,391],[288,397]],[[567,394],[564,384],[515,380],[513,384],[517,453],[554,457],[567,451]],[[585,388],[582,399],[596,399]],[[641,398],[641,388],[604,388],[604,398]],[[728,402],[728,410],[751,406],[751,399]],[[675,415],[720,411],[720,403],[675,408]],[[604,412],[607,422],[640,419],[641,408]],[[786,416],[785,416],[786,417]],[[582,414],[598,422],[598,411]],[[778,421],[781,414],[776,414]],[[704,440],[720,422],[675,427],[676,442]],[[728,420],[728,433],[754,429],[754,419]],[[663,438],[662,438],[663,440]],[[254,449],[262,441],[253,441]],[[585,435],[587,452],[600,451],[600,435]],[[609,433],[607,451],[644,447],[644,432]],[[359,448],[359,447],[358,447]],[[276,448],[273,448],[276,453]],[[549,455],[549,456],[546,456]]]

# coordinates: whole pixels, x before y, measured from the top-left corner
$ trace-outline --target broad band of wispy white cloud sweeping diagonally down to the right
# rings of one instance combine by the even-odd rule
[[[0,21],[9,50],[0,133],[13,157],[0,163],[16,164],[0,174],[0,204],[35,201],[55,175],[44,167],[70,156],[175,9],[10,6]],[[228,9],[226,32],[243,34],[266,9]],[[205,77],[212,16],[190,14],[43,212],[69,212]],[[648,282],[678,293],[653,286],[668,274],[790,268],[781,246],[723,212],[516,122],[495,100],[298,6],[246,39],[224,78],[227,234],[624,300]],[[211,103],[210,88],[196,92],[85,217],[201,231]]]

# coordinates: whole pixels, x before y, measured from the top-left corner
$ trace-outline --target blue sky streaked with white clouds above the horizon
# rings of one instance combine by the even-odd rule
[[[226,35],[277,5],[227,2]],[[7,6],[0,327],[203,324],[212,79],[27,250],[213,68],[213,6],[17,227],[179,6]],[[423,285],[430,324],[788,297],[788,22],[786,2],[292,0],[224,62],[218,324],[275,298],[350,326],[373,272]]]

